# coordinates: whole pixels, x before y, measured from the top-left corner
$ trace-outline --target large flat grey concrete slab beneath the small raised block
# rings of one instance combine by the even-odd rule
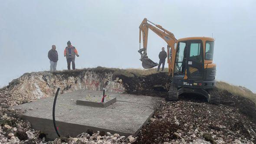
[[[78,90],[58,96],[55,118],[61,135],[69,134],[74,137],[88,129],[124,136],[137,135],[164,100],[144,95],[106,92],[109,97],[116,98],[116,102],[108,107],[76,105],[76,100],[86,99],[86,95],[102,95],[102,91]],[[26,109],[23,119],[30,121],[35,130],[46,133],[47,138],[54,139],[57,134],[53,128],[53,100],[54,97],[45,98],[13,108]],[[29,110],[30,107],[33,110]]]

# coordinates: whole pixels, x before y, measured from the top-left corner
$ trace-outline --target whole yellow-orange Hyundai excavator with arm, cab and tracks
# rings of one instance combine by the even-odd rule
[[[215,88],[214,39],[210,37],[176,39],[167,29],[144,18],[139,26],[138,50],[144,69],[151,69],[158,65],[147,55],[148,29],[167,43],[168,75],[171,77],[171,82],[166,100],[175,101],[182,93],[195,93],[205,96],[209,103],[220,104],[220,95]],[[141,48],[141,33],[143,48]]]

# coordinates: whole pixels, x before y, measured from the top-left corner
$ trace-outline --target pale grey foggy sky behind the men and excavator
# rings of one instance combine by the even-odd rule
[[[76,68],[141,68],[139,29],[144,17],[177,39],[212,36],[217,80],[256,92],[255,0],[0,0],[0,87],[25,72],[49,70],[47,53],[66,68],[68,40]],[[152,31],[148,55],[158,62],[163,39]],[[165,64],[167,66],[167,64]]]

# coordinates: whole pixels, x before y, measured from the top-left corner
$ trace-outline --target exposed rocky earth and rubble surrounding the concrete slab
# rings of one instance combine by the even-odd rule
[[[43,131],[34,131],[28,121],[10,106],[53,96],[79,88],[165,97],[170,79],[167,73],[138,75],[119,69],[83,69],[24,74],[0,89],[0,143],[46,143]],[[200,95],[183,94],[179,101],[162,101],[137,137],[120,137],[103,131],[77,137],[61,137],[48,144],[256,144],[256,107],[247,98],[219,90],[220,105],[208,104]],[[39,95],[39,96],[38,96]]]

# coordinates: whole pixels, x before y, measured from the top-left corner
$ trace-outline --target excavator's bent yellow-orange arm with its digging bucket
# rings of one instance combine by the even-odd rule
[[[148,23],[149,22],[149,23]],[[150,24],[151,23],[151,24]],[[158,36],[160,36],[164,41],[167,43],[167,62],[169,66],[169,74],[173,71],[174,68],[174,62],[171,62],[175,57],[176,52],[174,52],[176,49],[174,48],[174,44],[177,43],[177,39],[174,37],[174,34],[169,32],[168,30],[164,29],[160,25],[155,25],[154,23],[150,22],[146,18],[142,21],[141,25],[139,26],[140,29],[140,36],[139,36],[139,43],[140,43],[140,49],[138,52],[141,54],[141,62],[144,69],[150,69],[158,65],[158,63],[153,62],[151,59],[147,56],[147,47],[148,47],[148,29],[151,29],[154,33],[156,33]],[[142,33],[142,39],[143,39],[143,48],[141,49],[141,33]],[[170,48],[171,48],[171,59],[170,59]]]

